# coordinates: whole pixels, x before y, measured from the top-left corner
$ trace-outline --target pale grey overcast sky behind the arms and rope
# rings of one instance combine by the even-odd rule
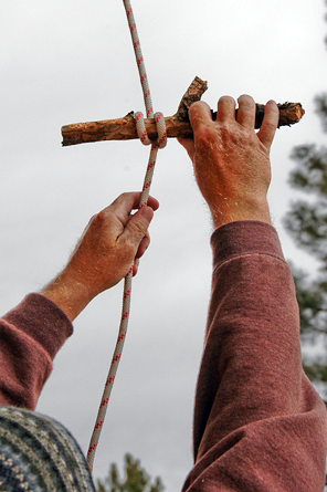
[[[282,227],[295,145],[323,144],[314,96],[326,88],[323,0],[134,0],[155,111],[173,114],[196,75],[212,108],[224,94],[300,102],[304,119],[277,130],[270,203],[286,258],[308,263]],[[122,0],[2,2],[0,306],[4,313],[64,265],[88,219],[139,190],[139,142],[61,147],[61,126],[144,111]],[[211,278],[211,222],[184,150],[159,151],[151,247],[134,281],[131,316],[95,477],[126,452],[167,490],[192,465],[192,405]],[[75,321],[38,406],[87,450],[116,341],[123,284]]]

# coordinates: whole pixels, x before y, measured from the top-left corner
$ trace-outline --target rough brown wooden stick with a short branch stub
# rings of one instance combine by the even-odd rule
[[[188,109],[192,103],[200,101],[202,94],[207,91],[207,82],[196,77],[188,91],[183,95],[177,113],[173,116],[165,118],[167,136],[172,137],[192,137],[193,132],[188,118]],[[300,103],[278,104],[279,123],[278,126],[291,126],[299,122],[304,115]],[[238,109],[236,109],[238,112]],[[260,128],[264,116],[264,105],[256,104],[255,128]],[[215,113],[212,112],[215,119]],[[149,138],[158,137],[154,118],[145,119]],[[75,123],[62,127],[63,146],[84,144],[87,142],[101,140],[130,140],[138,138],[134,113],[128,113],[124,118],[104,119],[99,122]]]

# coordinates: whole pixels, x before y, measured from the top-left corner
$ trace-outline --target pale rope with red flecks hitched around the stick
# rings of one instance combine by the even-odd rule
[[[144,145],[151,145],[149,160],[148,160],[148,167],[146,170],[143,191],[141,191],[141,196],[140,196],[140,200],[139,200],[139,205],[138,205],[138,208],[141,208],[147,205],[158,149],[164,148],[167,144],[167,132],[166,132],[165,118],[164,118],[162,113],[154,114],[148,77],[147,77],[144,56],[141,53],[139,38],[138,38],[137,29],[136,29],[136,22],[135,22],[134,13],[133,13],[131,6],[130,6],[130,0],[123,0],[123,3],[125,7],[125,10],[126,10],[126,15],[127,15],[129,30],[130,30],[130,34],[131,34],[136,62],[137,62],[141,88],[143,88],[143,93],[144,93],[144,101],[145,101],[147,117],[155,118],[157,132],[158,132],[158,139],[156,142],[151,142],[147,134],[143,113],[138,112],[135,114],[136,129],[137,129],[137,134],[138,134],[140,142]],[[110,398],[114,380],[115,380],[118,364],[119,364],[119,360],[122,357],[124,342],[126,338],[127,325],[128,325],[128,320],[129,320],[129,310],[130,310],[131,278],[133,278],[133,265],[130,266],[129,272],[125,276],[125,281],[124,281],[123,308],[122,308],[122,318],[120,318],[118,338],[116,342],[116,347],[114,350],[112,365],[110,365],[107,380],[105,384],[104,392],[102,396],[102,401],[101,401],[97,418],[96,418],[96,423],[95,423],[95,427],[93,430],[93,435],[91,438],[89,448],[88,448],[88,452],[87,452],[87,457],[86,457],[86,461],[87,461],[87,464],[88,464],[88,468],[91,471],[93,471],[94,456],[95,456],[95,451],[96,451],[96,448],[98,444],[98,440],[99,440],[101,431],[103,428],[105,415],[107,411],[107,406],[108,406],[108,401]]]

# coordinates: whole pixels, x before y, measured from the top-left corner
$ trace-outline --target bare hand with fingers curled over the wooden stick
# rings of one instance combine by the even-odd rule
[[[224,96],[218,103],[215,122],[205,103],[192,104],[189,117],[193,139],[180,138],[193,166],[214,228],[235,220],[270,223],[266,193],[271,182],[270,148],[278,124],[278,107],[270,101],[262,126],[254,132],[252,97],[235,101]]]

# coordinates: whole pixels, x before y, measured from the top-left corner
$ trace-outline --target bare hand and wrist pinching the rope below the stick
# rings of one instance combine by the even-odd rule
[[[139,259],[149,245],[148,227],[158,201],[137,209],[139,192],[120,195],[109,207],[94,216],[86,227],[67,265],[41,294],[51,299],[73,321],[101,292],[117,284],[129,271],[137,273]]]

